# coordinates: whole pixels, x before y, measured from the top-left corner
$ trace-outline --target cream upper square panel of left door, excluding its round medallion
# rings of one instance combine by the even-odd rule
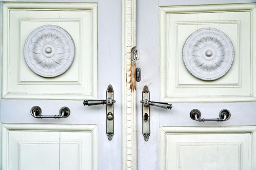
[[[32,71],[23,54],[29,34],[44,25],[61,27],[75,44],[71,67],[53,78]],[[3,44],[3,99],[97,97],[97,3],[3,3]]]

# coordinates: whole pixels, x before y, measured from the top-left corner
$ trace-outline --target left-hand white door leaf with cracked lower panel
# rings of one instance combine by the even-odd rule
[[[2,2],[1,12],[1,169],[120,170],[121,1]],[[30,69],[23,54],[29,34],[44,25],[61,27],[75,45],[71,67],[53,78],[32,71],[38,63],[32,61]],[[42,51],[33,56],[55,56],[60,43],[55,35],[49,30],[33,35],[34,43],[42,43]],[[44,46],[46,40],[49,47]],[[39,71],[55,72],[52,60],[39,62]],[[106,99],[110,84],[117,101],[111,141],[106,135],[106,106],[83,105],[85,99]],[[36,119],[30,114],[35,105],[42,115],[59,115],[62,106],[71,113],[68,118]]]

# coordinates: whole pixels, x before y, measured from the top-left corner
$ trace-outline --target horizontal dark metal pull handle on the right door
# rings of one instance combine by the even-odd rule
[[[200,119],[201,112],[198,109],[193,109],[190,112],[190,118],[196,121],[226,121],[230,118],[230,111],[223,109],[219,112],[219,118],[216,119]]]

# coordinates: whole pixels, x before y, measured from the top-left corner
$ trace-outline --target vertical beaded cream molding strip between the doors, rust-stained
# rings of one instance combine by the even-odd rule
[[[135,62],[136,0],[122,0],[122,168],[137,169],[137,114]]]

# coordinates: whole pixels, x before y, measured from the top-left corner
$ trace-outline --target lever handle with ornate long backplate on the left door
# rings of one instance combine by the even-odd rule
[[[114,135],[114,90],[112,85],[108,85],[106,91],[106,100],[85,100],[83,101],[83,105],[92,106],[99,104],[106,104],[106,133],[108,136],[108,140],[112,140]]]

